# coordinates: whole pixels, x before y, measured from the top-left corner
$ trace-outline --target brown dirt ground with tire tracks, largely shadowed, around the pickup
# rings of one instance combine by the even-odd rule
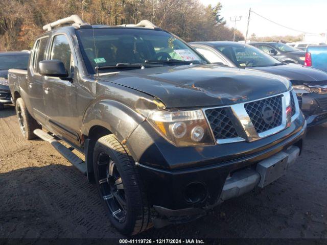
[[[311,128],[281,179],[183,225],[139,238],[327,238],[327,124]],[[21,137],[15,111],[0,111],[0,238],[119,238],[95,185],[41,140]]]

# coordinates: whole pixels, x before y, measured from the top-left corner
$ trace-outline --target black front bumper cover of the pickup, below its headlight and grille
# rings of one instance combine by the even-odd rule
[[[177,148],[156,134],[145,121],[136,128],[127,145],[145,182],[151,204],[159,212],[179,215],[217,205],[231,173],[255,169],[269,157],[290,153],[292,146],[298,150],[290,156],[299,154],[305,133],[306,121],[300,114],[289,128],[251,143]],[[252,178],[256,186],[260,178],[256,180],[255,175],[246,170],[239,178]]]

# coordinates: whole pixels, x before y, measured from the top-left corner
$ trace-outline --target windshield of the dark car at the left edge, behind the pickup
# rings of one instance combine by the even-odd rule
[[[27,69],[29,55],[1,55],[0,70]]]

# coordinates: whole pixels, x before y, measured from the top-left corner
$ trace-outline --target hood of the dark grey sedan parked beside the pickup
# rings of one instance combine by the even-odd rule
[[[316,82],[327,81],[327,72],[317,70],[310,67],[304,67],[298,64],[286,64],[267,67],[251,67],[248,70],[266,71],[271,74],[283,76],[293,84],[300,84],[302,82],[312,83],[317,85]]]

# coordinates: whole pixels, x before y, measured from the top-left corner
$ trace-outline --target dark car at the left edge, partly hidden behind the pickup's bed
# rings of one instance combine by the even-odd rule
[[[11,94],[8,86],[8,70],[10,68],[27,69],[29,60],[27,52],[0,52],[0,110],[10,104]]]

